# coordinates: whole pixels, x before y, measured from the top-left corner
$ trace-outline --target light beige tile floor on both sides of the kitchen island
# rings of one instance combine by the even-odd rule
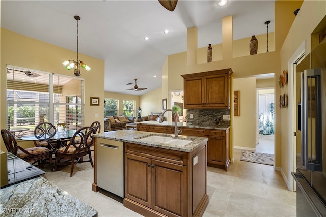
[[[279,171],[273,166],[239,161],[241,150],[234,149],[234,163],[225,172],[208,167],[209,204],[204,216],[296,216],[295,192],[287,190]],[[70,177],[69,167],[46,172],[45,177],[61,189],[98,211],[98,216],[140,216],[122,203],[93,192],[93,169],[90,163],[77,164]]]

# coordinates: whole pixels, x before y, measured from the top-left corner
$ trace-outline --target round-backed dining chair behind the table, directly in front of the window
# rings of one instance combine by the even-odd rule
[[[40,139],[43,136],[47,139],[55,136],[57,132],[56,127],[49,122],[40,122],[34,129],[34,136],[39,140],[34,140],[34,145],[36,147],[47,147],[49,149],[55,149],[57,142],[51,142],[48,140]]]

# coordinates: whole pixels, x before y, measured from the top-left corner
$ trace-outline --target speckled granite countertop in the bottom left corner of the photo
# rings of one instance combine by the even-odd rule
[[[43,177],[0,189],[0,215],[97,216],[97,211]]]

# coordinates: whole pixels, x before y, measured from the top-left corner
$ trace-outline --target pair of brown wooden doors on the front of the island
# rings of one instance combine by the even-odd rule
[[[166,216],[187,216],[186,167],[128,153],[125,166],[126,198]]]

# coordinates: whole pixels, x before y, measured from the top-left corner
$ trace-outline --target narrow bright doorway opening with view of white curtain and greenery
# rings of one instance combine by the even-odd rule
[[[275,97],[274,88],[257,89],[258,134],[256,151],[274,154]]]

